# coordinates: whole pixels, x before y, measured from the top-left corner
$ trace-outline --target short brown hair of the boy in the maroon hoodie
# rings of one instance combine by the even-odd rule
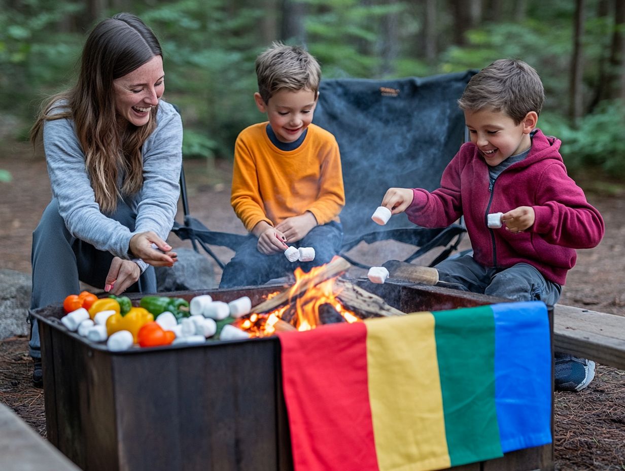
[[[517,59],[499,59],[471,78],[458,105],[463,111],[502,111],[519,124],[530,111],[540,114],[544,99],[533,68]]]

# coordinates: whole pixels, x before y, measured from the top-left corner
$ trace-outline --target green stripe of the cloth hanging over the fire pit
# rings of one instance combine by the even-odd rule
[[[501,457],[492,310],[479,306],[432,314],[451,465]]]

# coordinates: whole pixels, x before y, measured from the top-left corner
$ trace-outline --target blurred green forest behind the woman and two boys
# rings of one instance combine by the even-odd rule
[[[539,126],[562,139],[573,174],[609,190],[625,176],[623,0],[0,0],[0,140],[27,139],[42,99],[73,84],[86,34],[120,11],[164,50],[166,99],[184,120],[184,156],[231,159],[261,116],[254,58],[304,44],[323,78],[401,78],[519,58],[541,75]],[[349,119],[349,116],[345,116]],[[0,180],[11,180],[0,170]],[[620,185],[619,185],[620,186]]]

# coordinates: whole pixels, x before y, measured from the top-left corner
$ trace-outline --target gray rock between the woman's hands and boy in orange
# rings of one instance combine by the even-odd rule
[[[216,288],[214,262],[191,248],[176,248],[174,266],[157,266],[156,288],[165,291],[207,290]]]

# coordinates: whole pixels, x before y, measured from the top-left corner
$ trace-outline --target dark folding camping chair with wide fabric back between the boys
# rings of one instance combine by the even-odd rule
[[[436,247],[431,262],[447,258],[466,232],[464,225],[428,229],[405,214],[385,226],[371,220],[388,188],[425,188],[441,183],[442,171],[467,139],[457,99],[474,71],[396,80],[327,79],[319,86],[313,123],[330,131],[341,149],[346,205],[341,256],[361,241],[395,240],[417,247],[412,261]]]

